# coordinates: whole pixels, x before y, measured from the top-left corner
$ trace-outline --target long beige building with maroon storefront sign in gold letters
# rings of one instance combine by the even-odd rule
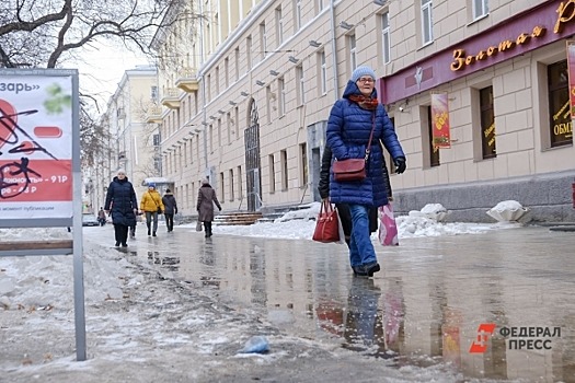
[[[439,202],[453,220],[482,221],[514,199],[534,220],[575,220],[566,62],[575,1],[195,7],[204,19],[179,16],[154,37],[160,103],[147,115],[184,214],[195,213],[203,177],[229,211],[319,200],[331,106],[367,65],[407,156],[407,171],[391,175],[396,210]],[[449,148],[433,146],[434,93],[447,94]]]

